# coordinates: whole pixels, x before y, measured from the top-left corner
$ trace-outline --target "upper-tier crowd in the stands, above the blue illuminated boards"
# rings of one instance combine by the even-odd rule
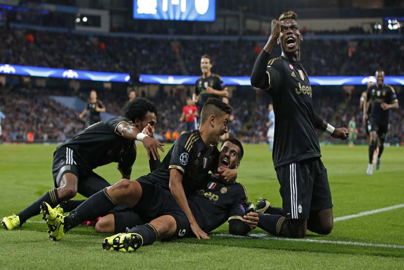
[[[213,58],[213,72],[248,76],[265,42],[254,40],[162,40],[32,30],[0,31],[0,63],[140,73],[198,75],[200,57]],[[394,51],[395,53],[390,53]],[[278,47],[272,53],[279,56]],[[304,40],[302,63],[309,75],[404,75],[404,43],[398,39]],[[392,65],[391,63],[394,63]]]

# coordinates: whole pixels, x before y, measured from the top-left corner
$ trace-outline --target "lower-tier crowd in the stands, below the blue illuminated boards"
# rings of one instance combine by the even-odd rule
[[[334,89],[335,90],[335,89]],[[327,94],[328,93],[328,94]],[[341,90],[316,89],[313,87],[313,106],[320,118],[326,119],[335,127],[347,127],[352,116],[356,118],[358,130],[357,142],[366,143],[367,135],[362,124],[362,111],[359,110],[360,92],[344,97]],[[147,97],[158,108],[156,134],[162,140],[172,141],[175,134],[185,131],[184,122],[179,118],[185,101],[179,97],[180,92],[159,91],[154,97]],[[80,112],[73,111],[49,98],[49,95],[76,96],[88,100],[89,91],[59,90],[34,87],[0,88],[0,111],[6,115],[1,122],[3,140],[27,141],[28,133],[32,133],[35,141],[64,141],[86,127],[86,123],[78,118]],[[250,97],[234,95],[230,100],[233,107],[234,120],[229,125],[232,136],[239,137],[245,143],[267,143],[268,104],[270,96],[251,90]],[[251,98],[254,97],[254,98]],[[125,91],[98,91],[98,99],[104,101],[107,112],[120,115],[128,97]],[[403,101],[403,97],[399,96]],[[387,142],[404,143],[404,104],[399,110],[390,113],[390,128]],[[87,123],[88,124],[88,123]],[[169,134],[169,137],[164,137]],[[319,132],[321,140],[336,141]]]

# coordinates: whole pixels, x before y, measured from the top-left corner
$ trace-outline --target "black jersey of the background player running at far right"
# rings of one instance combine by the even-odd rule
[[[383,110],[381,104],[398,102],[396,92],[391,85],[383,84],[382,87],[373,85],[367,89],[367,102],[369,118],[375,118],[382,123],[388,123],[389,110]]]

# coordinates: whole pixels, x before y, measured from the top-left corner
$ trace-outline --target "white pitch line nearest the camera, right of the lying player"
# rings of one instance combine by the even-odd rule
[[[259,238],[261,240],[312,242],[312,243],[321,243],[321,244],[340,244],[340,245],[351,245],[351,246],[404,249],[404,246],[400,246],[400,245],[387,245],[387,244],[350,242],[350,241],[331,241],[331,240],[318,240],[318,239],[307,239],[307,238],[304,238],[304,239],[302,239],[302,238],[285,238],[285,237],[268,236],[267,234],[251,234],[248,236],[235,236],[235,235],[230,235],[230,234],[213,234],[213,235],[214,236],[233,237],[233,238]]]

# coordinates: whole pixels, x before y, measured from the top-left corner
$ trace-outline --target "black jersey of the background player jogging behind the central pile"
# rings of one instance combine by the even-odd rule
[[[206,93],[207,86],[210,86],[215,90],[224,89],[223,80],[220,78],[219,75],[212,73],[207,78],[202,78],[202,76],[199,77],[195,82],[195,94],[199,95],[197,106],[200,112],[203,104],[207,101],[209,97],[220,98],[218,95],[207,94]]]

